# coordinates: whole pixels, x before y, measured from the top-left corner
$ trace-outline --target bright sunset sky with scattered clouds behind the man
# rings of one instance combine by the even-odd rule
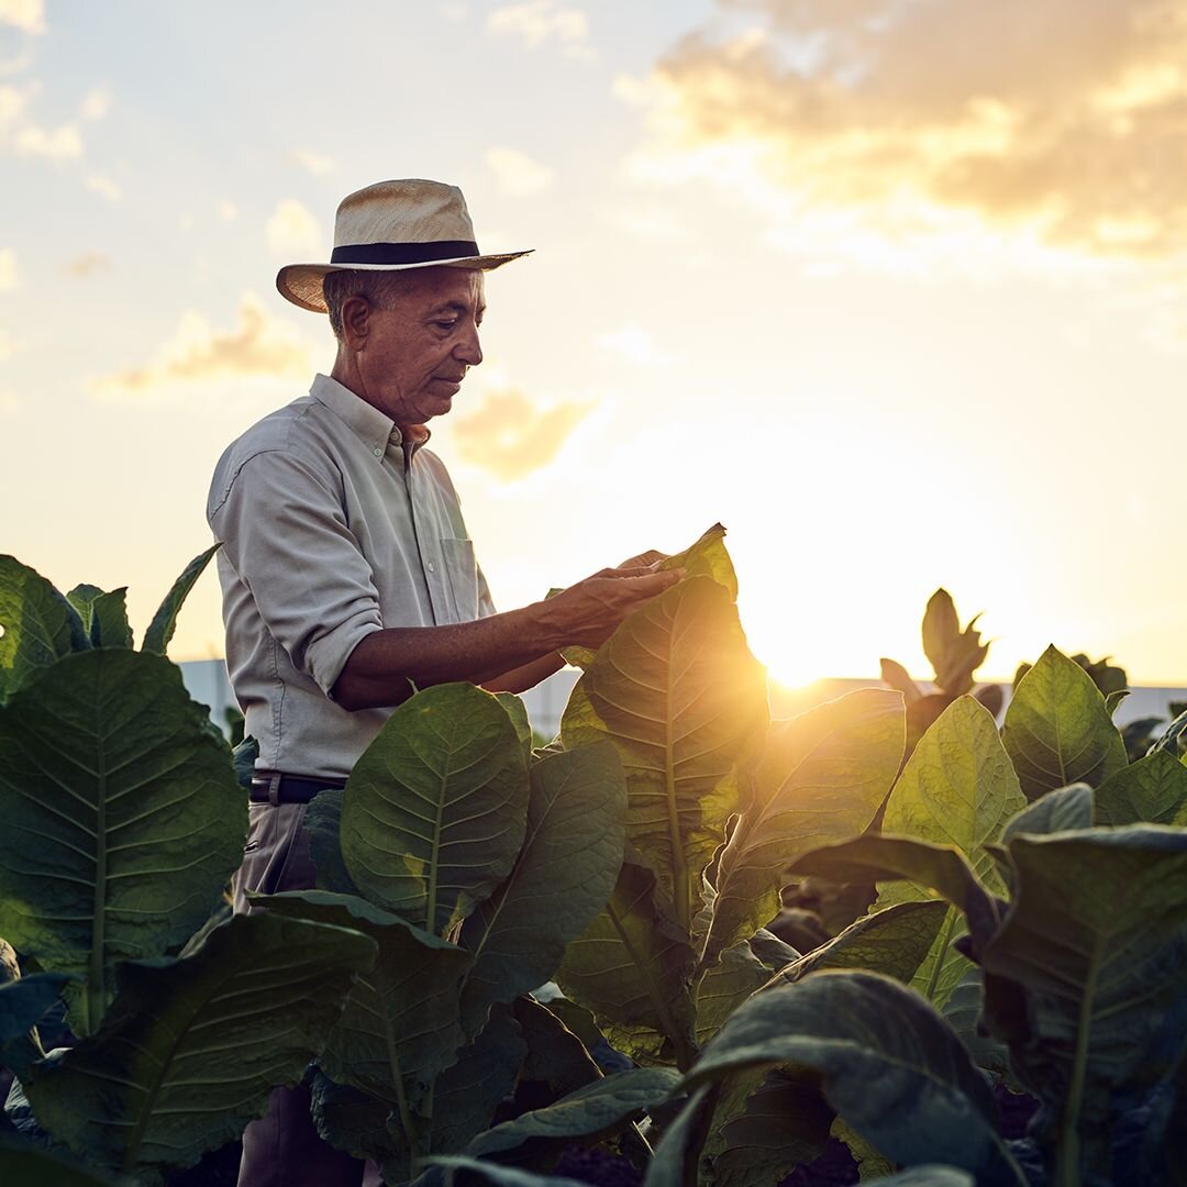
[[[0,0],[0,551],[139,636],[332,366],[277,269],[430,177],[534,248],[431,425],[502,608],[721,521],[783,683],[944,586],[1187,685],[1185,144],[1187,0]]]

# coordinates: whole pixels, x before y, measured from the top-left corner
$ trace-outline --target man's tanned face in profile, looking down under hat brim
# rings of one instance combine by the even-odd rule
[[[393,309],[370,310],[356,356],[360,395],[401,427],[444,415],[466,370],[482,362],[478,326],[485,307],[480,271],[410,272]]]

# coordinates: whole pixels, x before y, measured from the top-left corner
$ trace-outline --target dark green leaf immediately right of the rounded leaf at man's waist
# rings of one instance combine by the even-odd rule
[[[542,985],[565,945],[605,906],[622,868],[627,786],[608,742],[532,766],[527,834],[515,868],[462,925],[474,953],[462,994],[468,1034],[495,1002]]]

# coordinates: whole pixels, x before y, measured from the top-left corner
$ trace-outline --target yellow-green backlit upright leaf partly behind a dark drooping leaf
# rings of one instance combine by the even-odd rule
[[[958,697],[923,735],[887,802],[882,829],[961,852],[983,886],[1005,887],[985,848],[998,839],[1007,820],[1027,806],[1010,756],[992,715],[972,697]],[[931,887],[893,882],[882,888],[881,906],[932,897]],[[965,934],[956,907],[941,925],[932,951],[912,985],[942,1005],[969,969],[956,948]]]

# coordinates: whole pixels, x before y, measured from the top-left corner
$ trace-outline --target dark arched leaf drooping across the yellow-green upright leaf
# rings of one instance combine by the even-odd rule
[[[977,881],[960,852],[912,837],[871,834],[823,845],[796,858],[791,872],[818,874],[834,882],[903,878],[929,887],[964,912],[975,947],[997,932],[1002,919],[1003,904]]]

